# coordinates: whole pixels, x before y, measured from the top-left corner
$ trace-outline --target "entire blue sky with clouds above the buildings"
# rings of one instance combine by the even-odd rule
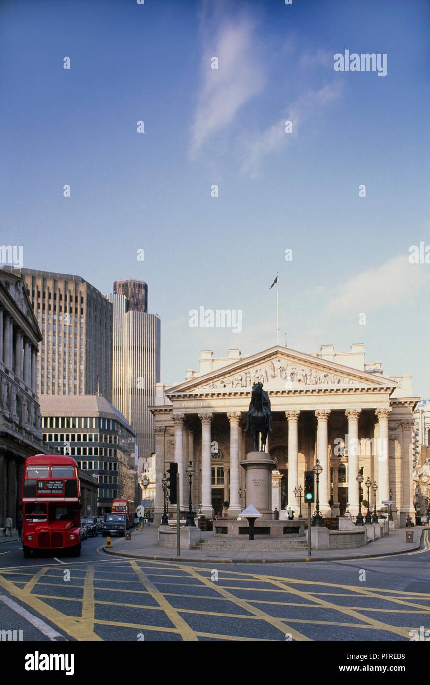
[[[430,264],[408,260],[430,245],[429,26],[424,0],[3,0],[1,244],[102,292],[145,280],[166,383],[275,344],[279,271],[281,343],[365,343],[430,397]],[[388,74],[335,72],[346,49]],[[242,332],[190,328],[199,306]]]

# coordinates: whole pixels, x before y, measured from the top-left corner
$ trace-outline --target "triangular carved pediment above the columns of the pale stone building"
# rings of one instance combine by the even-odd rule
[[[342,366],[336,362],[297,352],[286,347],[272,347],[251,357],[242,358],[221,369],[187,380],[168,390],[173,395],[201,393],[251,392],[254,383],[265,390],[303,390],[321,388],[396,388],[396,382],[381,375]]]

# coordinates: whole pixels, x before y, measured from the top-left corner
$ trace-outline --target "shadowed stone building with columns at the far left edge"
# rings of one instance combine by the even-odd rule
[[[40,431],[37,355],[42,340],[21,277],[0,270],[0,527],[16,525],[24,460],[46,452]]]

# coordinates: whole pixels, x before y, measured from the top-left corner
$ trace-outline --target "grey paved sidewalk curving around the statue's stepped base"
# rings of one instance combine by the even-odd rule
[[[305,561],[336,561],[349,559],[368,559],[378,556],[388,556],[390,554],[401,554],[414,551],[420,548],[421,540],[429,540],[429,534],[422,536],[422,532],[429,530],[428,527],[415,527],[414,542],[407,543],[405,528],[390,532],[389,536],[375,540],[366,547],[355,547],[355,549],[337,549],[327,551],[312,551],[312,557],[307,557],[307,552],[270,552],[270,551],[209,551],[204,549],[183,549],[181,556],[176,556],[176,548],[160,547],[157,540],[157,527],[145,527],[144,530],[136,530],[131,534],[131,540],[124,538],[111,538],[112,547],[104,547],[108,554],[115,556],[127,556],[136,559],[157,559],[165,561],[191,561],[191,562],[305,562]],[[213,539],[212,533],[203,533],[202,539]],[[429,545],[430,540],[425,542]]]

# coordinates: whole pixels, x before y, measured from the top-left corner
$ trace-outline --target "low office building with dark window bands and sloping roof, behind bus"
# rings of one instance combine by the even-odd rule
[[[109,512],[116,497],[135,499],[136,432],[107,399],[42,395],[40,411],[47,443],[97,479],[97,514]]]

